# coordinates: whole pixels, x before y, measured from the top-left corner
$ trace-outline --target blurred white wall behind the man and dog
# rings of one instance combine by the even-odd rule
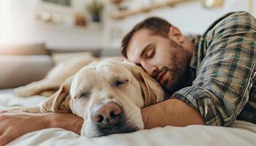
[[[26,44],[45,42],[49,48],[57,49],[116,49],[121,37],[136,23],[149,16],[165,18],[181,29],[184,34],[202,34],[217,18],[227,12],[251,11],[256,15],[256,1],[225,0],[222,7],[207,9],[201,1],[162,7],[147,13],[132,15],[121,20],[111,18],[116,7],[110,1],[102,1],[104,10],[101,23],[91,23],[86,4],[91,0],[71,0],[72,6],[48,4],[42,0],[1,0],[0,44]],[[141,1],[137,3],[141,4]],[[144,1],[145,2],[145,1]],[[133,1],[133,6],[136,1]],[[253,4],[250,6],[250,4]],[[253,8],[253,9],[252,9]],[[38,17],[55,15],[60,24],[42,23]],[[86,18],[86,27],[74,26],[74,15]],[[43,14],[43,15],[42,15]]]

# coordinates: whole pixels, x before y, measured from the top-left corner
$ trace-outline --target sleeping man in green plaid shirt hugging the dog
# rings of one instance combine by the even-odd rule
[[[146,128],[230,126],[236,118],[256,123],[255,40],[256,20],[247,12],[224,15],[192,40],[161,18],[136,25],[122,41],[122,54],[172,94],[141,110]],[[78,132],[82,123],[63,113],[2,114],[0,145],[42,128]]]

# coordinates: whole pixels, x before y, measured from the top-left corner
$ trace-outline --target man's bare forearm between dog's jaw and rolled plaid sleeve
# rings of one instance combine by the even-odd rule
[[[145,128],[204,125],[203,118],[184,101],[168,99],[141,109]]]

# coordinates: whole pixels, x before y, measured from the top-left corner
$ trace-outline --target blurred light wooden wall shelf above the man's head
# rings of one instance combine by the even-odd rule
[[[137,15],[137,14],[140,14],[143,12],[150,12],[153,9],[159,9],[159,8],[167,7],[167,6],[173,7],[176,4],[188,2],[188,1],[196,1],[196,0],[170,0],[170,1],[165,1],[165,2],[161,2],[161,3],[153,3],[146,7],[140,7],[140,9],[123,10],[121,12],[118,12],[118,14],[116,14],[116,15],[112,15],[112,19],[120,20],[120,19],[126,18],[128,16]]]

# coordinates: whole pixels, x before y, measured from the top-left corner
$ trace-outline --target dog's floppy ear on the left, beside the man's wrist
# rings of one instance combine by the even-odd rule
[[[72,77],[69,77],[65,82],[61,84],[59,91],[50,96],[47,101],[40,104],[40,110],[42,112],[71,112],[70,101],[70,85]]]

